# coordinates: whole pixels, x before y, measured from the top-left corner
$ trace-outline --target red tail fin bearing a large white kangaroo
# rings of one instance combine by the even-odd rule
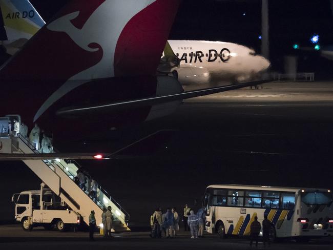
[[[72,0],[9,61],[0,78],[92,80],[154,74],[179,2]]]

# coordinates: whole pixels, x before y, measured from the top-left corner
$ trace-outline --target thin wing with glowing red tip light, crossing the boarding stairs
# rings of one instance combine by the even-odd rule
[[[104,155],[104,154],[103,154]],[[51,154],[0,154],[0,161],[56,160],[56,159],[109,159],[102,154],[92,153],[51,153]],[[106,154],[108,155],[108,154]]]

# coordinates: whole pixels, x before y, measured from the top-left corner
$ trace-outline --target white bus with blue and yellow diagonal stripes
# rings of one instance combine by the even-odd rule
[[[203,206],[206,231],[221,238],[248,236],[254,217],[262,224],[264,215],[272,222],[272,241],[333,235],[332,194],[327,189],[210,185]]]

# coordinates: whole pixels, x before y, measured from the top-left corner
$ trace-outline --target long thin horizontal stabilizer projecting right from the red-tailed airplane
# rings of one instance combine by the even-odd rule
[[[265,82],[269,82],[270,80],[261,80],[261,81],[252,81],[252,82],[244,82],[242,84],[237,85],[228,85],[223,87],[216,87],[216,88],[208,88],[208,89],[202,89],[202,90],[193,90],[193,91],[186,91],[179,94],[172,94],[172,95],[165,95],[165,96],[153,96],[148,98],[142,98],[142,99],[134,99],[134,100],[126,100],[121,102],[112,102],[109,104],[103,104],[103,105],[95,105],[95,106],[86,106],[86,107],[69,107],[64,108],[57,111],[57,115],[86,115],[87,113],[94,113],[97,112],[105,113],[110,111],[115,111],[123,108],[130,108],[133,106],[150,106],[150,105],[156,105],[163,102],[170,102],[170,101],[176,101],[176,100],[183,100],[183,99],[189,99],[193,97],[198,96],[205,96],[205,95],[211,95],[215,93],[220,93],[224,91],[229,90],[236,90],[241,89],[244,87],[249,86],[256,86],[259,84],[264,84]]]

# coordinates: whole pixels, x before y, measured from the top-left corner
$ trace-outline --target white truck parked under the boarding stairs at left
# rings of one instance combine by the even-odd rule
[[[12,196],[15,203],[15,219],[26,231],[33,227],[44,226],[46,229],[55,227],[65,231],[69,227],[80,225],[81,216],[75,213],[44,183],[40,190],[23,191]]]

